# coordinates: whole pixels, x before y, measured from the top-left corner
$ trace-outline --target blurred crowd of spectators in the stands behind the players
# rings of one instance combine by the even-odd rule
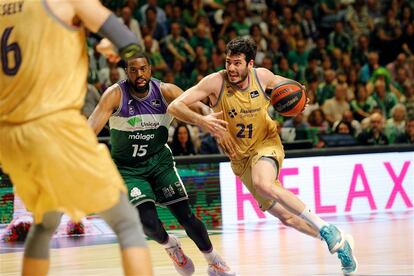
[[[306,85],[303,114],[272,108],[287,148],[414,143],[414,1],[412,0],[103,0],[133,31],[153,77],[183,90],[224,69],[235,37],[258,45],[257,67]],[[96,51],[84,113],[126,78],[121,64]],[[109,135],[108,132],[101,135]],[[175,122],[175,155],[220,153],[214,138]]]

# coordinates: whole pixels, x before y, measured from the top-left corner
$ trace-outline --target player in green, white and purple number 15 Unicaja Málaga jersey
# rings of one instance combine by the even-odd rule
[[[193,214],[173,156],[167,146],[172,116],[167,107],[183,92],[176,85],[151,77],[145,55],[127,62],[128,79],[109,87],[89,117],[98,134],[109,120],[111,155],[127,187],[129,200],[139,213],[145,234],[163,245],[181,275],[194,265],[158,218],[155,204],[171,211],[208,262],[209,275],[234,275],[216,251],[204,224]],[[197,103],[200,105],[201,103]]]

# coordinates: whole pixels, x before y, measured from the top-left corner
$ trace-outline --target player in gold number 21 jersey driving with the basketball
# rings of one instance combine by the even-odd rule
[[[276,123],[269,117],[265,91],[286,80],[265,68],[253,68],[257,46],[234,39],[226,47],[226,69],[210,74],[174,100],[168,111],[177,119],[199,125],[216,137],[231,160],[233,172],[258,201],[284,224],[326,241],[338,253],[345,274],[356,270],[353,240],[319,218],[293,193],[278,173],[284,159]],[[189,106],[208,101],[215,113],[202,116]]]

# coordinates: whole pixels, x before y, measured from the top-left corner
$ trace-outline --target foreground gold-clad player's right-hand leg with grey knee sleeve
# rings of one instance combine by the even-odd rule
[[[99,213],[118,237],[125,275],[152,275],[151,259],[135,209],[122,193],[119,202]]]

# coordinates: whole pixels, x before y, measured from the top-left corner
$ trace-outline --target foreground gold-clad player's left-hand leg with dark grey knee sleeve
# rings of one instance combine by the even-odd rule
[[[45,213],[41,223],[33,223],[25,242],[22,275],[47,275],[49,243],[59,226],[62,213]]]

